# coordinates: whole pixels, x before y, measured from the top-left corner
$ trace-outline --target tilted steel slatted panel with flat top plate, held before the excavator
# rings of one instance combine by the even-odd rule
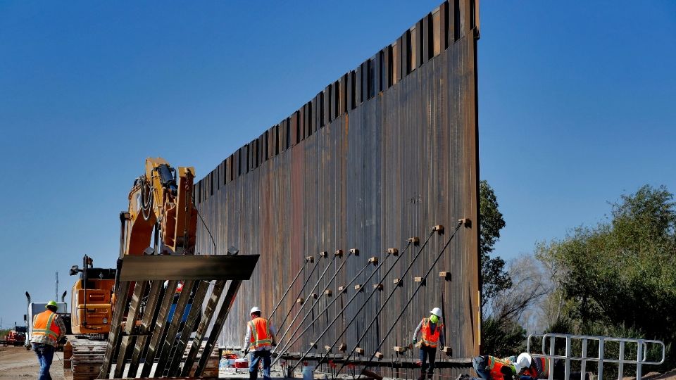
[[[106,379],[111,374],[114,379],[147,377],[151,374],[175,375],[179,371],[180,362],[184,365],[183,376],[203,374],[213,353],[215,338],[230,314],[230,306],[237,296],[239,286],[242,281],[251,277],[258,257],[259,255],[125,255],[119,272],[120,284],[115,292],[115,312],[111,321],[111,332],[108,334],[108,347],[106,353],[97,356],[94,363],[94,368],[100,365],[99,378]],[[163,286],[165,280],[169,281]],[[209,307],[201,312],[199,306],[213,280],[216,280],[217,286],[209,296]],[[228,293],[222,298],[221,291],[228,280]],[[183,283],[181,291],[177,290],[179,281]],[[175,297],[178,298],[175,310],[169,317],[168,311]],[[144,298],[149,301],[144,302]],[[219,303],[220,308],[216,308]],[[187,319],[184,321],[183,316],[188,309]],[[128,320],[141,319],[141,324],[123,325],[125,310],[128,310]],[[208,322],[217,310],[216,323],[211,327],[208,339],[204,341]],[[190,332],[199,318],[203,323],[197,330],[198,334],[190,338]],[[155,322],[149,327],[152,320]],[[181,327],[182,324],[185,326]],[[177,336],[180,336],[179,341],[176,340]],[[183,360],[188,345],[188,355]],[[202,350],[202,354],[198,358],[199,350]],[[145,357],[142,357],[142,353],[145,353]],[[127,359],[131,359],[128,365]],[[75,371],[73,374],[75,375]],[[94,377],[87,373],[87,378]]]

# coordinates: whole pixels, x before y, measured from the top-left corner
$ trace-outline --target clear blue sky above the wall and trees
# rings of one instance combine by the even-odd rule
[[[146,156],[198,177],[399,37],[434,1],[0,0],[0,317],[113,266]],[[591,3],[591,2],[589,2]],[[496,254],[676,191],[676,3],[481,2],[480,170]],[[69,292],[70,293],[70,292]]]

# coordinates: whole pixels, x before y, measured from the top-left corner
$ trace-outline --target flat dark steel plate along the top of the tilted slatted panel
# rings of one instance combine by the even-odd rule
[[[230,279],[248,280],[259,255],[127,256],[121,281]]]

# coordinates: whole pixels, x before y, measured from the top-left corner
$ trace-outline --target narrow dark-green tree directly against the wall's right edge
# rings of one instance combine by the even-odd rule
[[[481,305],[484,308],[489,300],[500,291],[509,289],[512,280],[505,270],[505,261],[499,256],[491,258],[495,243],[500,239],[500,230],[505,220],[498,208],[498,199],[488,182],[479,182],[479,253],[481,258]]]

